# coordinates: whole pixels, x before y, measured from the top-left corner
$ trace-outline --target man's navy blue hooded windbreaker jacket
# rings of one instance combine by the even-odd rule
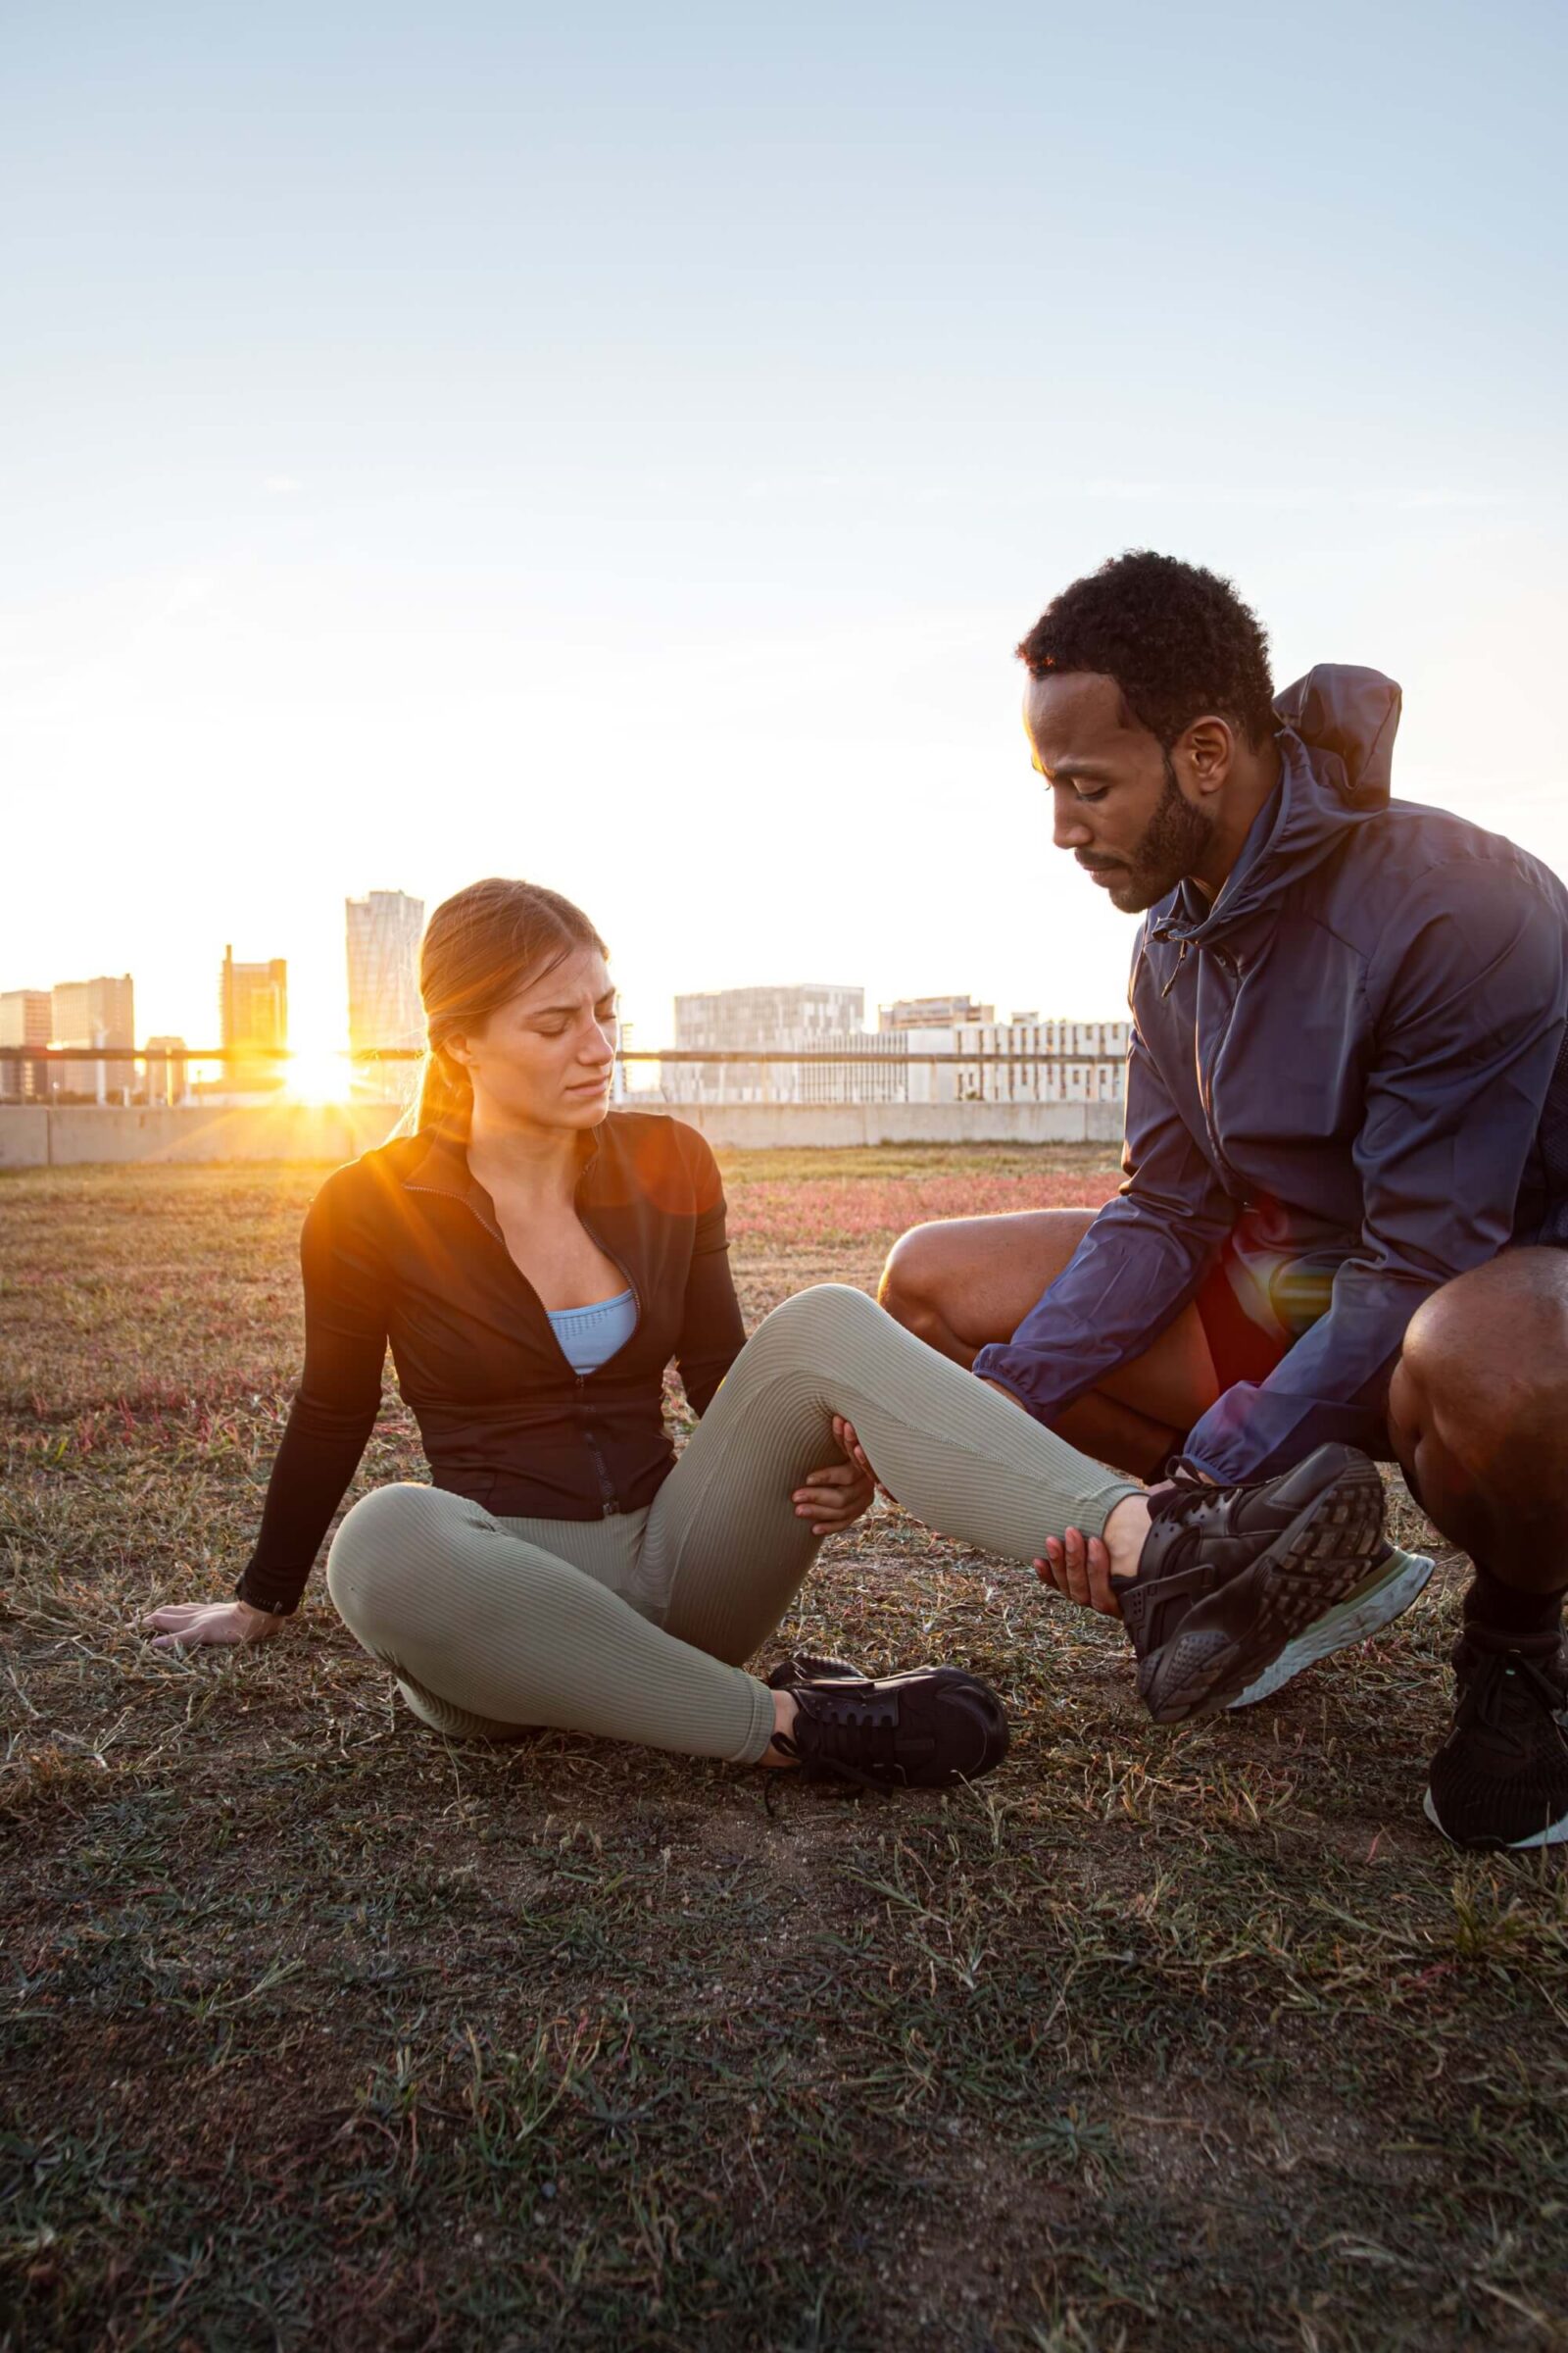
[[[1300,1332],[1185,1454],[1267,1478],[1387,1452],[1403,1329],[1509,1242],[1568,1245],[1568,892],[1497,833],[1389,800],[1399,687],[1324,666],[1279,696],[1279,791],[1211,904],[1133,951],[1126,1181],[976,1372],[1048,1421],[1192,1299],[1225,1238]]]

